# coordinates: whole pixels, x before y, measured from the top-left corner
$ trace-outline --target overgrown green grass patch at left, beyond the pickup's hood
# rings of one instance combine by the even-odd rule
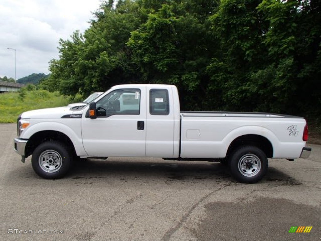
[[[21,93],[0,94],[0,123],[15,123],[17,117],[25,111],[66,106],[69,97],[58,92],[47,90],[31,90]]]

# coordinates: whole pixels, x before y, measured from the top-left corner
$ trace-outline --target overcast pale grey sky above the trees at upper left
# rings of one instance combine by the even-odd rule
[[[48,74],[48,62],[58,58],[58,40],[70,39],[89,27],[101,0],[1,0],[0,77],[17,79],[32,73]]]

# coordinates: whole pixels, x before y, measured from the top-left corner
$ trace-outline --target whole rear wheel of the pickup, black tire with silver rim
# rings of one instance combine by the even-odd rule
[[[256,183],[267,172],[269,166],[265,153],[255,146],[241,146],[230,156],[232,176],[242,183]]]

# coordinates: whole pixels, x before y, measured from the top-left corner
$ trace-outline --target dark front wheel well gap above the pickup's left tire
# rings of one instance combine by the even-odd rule
[[[70,147],[73,153],[75,153],[74,144],[67,135],[56,130],[43,130],[33,134],[29,138],[25,149],[25,156],[28,157],[32,155],[33,151],[39,146],[39,144],[49,140],[62,142],[67,147]]]

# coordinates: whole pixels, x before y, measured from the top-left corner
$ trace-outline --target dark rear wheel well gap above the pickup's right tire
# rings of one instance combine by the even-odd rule
[[[273,156],[273,147],[271,142],[260,135],[243,135],[234,139],[227,150],[226,156],[229,156],[237,147],[247,145],[260,148],[267,158],[272,158]]]

